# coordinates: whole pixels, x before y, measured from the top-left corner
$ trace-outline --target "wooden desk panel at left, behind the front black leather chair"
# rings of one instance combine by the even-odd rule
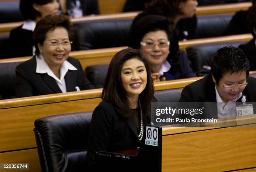
[[[34,121],[56,114],[93,111],[101,99],[85,99],[59,103],[0,109],[0,152],[36,147]]]

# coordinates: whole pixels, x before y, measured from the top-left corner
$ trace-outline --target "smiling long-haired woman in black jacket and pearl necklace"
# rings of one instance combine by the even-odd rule
[[[102,91],[103,101],[92,114],[88,165],[95,171],[95,151],[136,149],[143,143],[154,101],[150,69],[138,50],[118,52],[110,62]]]

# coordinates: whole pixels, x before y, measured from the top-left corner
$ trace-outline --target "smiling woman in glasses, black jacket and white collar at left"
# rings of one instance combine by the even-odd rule
[[[69,57],[74,34],[69,17],[47,15],[33,33],[36,56],[16,68],[18,97],[94,89],[79,61]]]

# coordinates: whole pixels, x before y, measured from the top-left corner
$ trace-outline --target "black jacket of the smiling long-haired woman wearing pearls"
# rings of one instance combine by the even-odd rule
[[[144,126],[148,123],[148,120],[144,120]],[[93,111],[90,124],[87,150],[89,171],[95,168],[95,151],[136,149],[141,147],[141,143],[134,119],[121,116],[111,103],[102,101]]]

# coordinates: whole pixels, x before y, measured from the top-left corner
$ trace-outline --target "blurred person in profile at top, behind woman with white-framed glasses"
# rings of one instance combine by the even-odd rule
[[[148,8],[136,16],[133,23],[146,15],[162,15],[168,18],[178,40],[192,39],[197,26],[195,15],[197,5],[197,0],[152,1]]]

